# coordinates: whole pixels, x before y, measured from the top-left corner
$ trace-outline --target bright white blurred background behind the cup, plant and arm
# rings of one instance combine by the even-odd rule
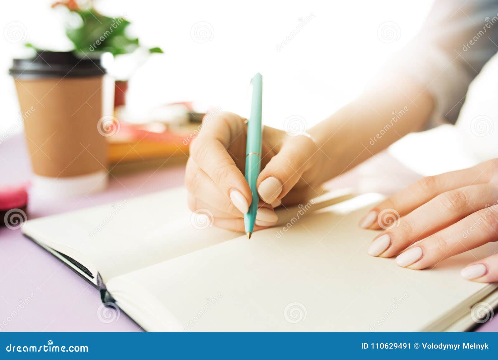
[[[19,108],[7,70],[12,58],[30,51],[23,44],[71,49],[64,30],[67,11],[51,8],[52,3],[3,4],[0,133],[22,131],[12,127]],[[130,21],[129,30],[142,45],[164,52],[125,75],[130,113],[191,101],[198,108],[219,107],[247,116],[248,82],[259,71],[264,76],[263,122],[281,128],[286,118],[296,115],[312,126],[357,96],[376,69],[417,33],[431,3],[97,0],[94,5],[103,14]],[[470,131],[476,116],[497,119],[496,65],[495,57],[472,84],[457,126],[442,129],[444,136],[438,134],[437,142],[430,134],[410,135],[394,144],[391,154],[423,174],[497,156],[498,129],[486,136]],[[429,140],[421,142],[420,136]],[[443,162],[449,154],[452,159]]]

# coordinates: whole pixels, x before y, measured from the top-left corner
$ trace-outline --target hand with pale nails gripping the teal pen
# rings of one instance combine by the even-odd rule
[[[202,129],[190,144],[185,173],[190,210],[209,212],[217,227],[244,231],[244,215],[251,202],[244,177],[247,125],[244,118],[221,113],[203,120]],[[268,126],[263,129],[261,173],[257,191],[262,201],[254,230],[277,221],[273,208],[295,204],[318,194],[320,154],[306,135],[289,136]]]

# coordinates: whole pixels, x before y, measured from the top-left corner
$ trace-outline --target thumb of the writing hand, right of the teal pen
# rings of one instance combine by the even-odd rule
[[[267,203],[282,199],[296,185],[303,172],[315,165],[317,151],[315,142],[306,135],[284,142],[257,178],[259,197]]]

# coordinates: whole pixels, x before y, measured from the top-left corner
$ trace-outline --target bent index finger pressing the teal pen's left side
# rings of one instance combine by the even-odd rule
[[[190,157],[237,209],[247,213],[251,202],[249,184],[227,150],[233,142],[245,144],[242,124],[241,117],[222,113],[190,143]]]

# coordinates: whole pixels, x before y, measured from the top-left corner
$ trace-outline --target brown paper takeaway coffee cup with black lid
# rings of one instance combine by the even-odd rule
[[[14,59],[13,76],[33,167],[33,187],[50,196],[97,192],[107,184],[105,70],[98,59],[39,51]],[[109,126],[109,124],[105,124]]]

